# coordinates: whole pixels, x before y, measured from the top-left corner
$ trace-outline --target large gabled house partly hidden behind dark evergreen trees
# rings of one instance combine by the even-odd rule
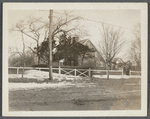
[[[83,57],[83,55],[78,55],[78,54],[61,54],[57,52],[53,58],[53,65],[59,65],[61,66],[81,66],[81,67],[89,67],[89,68],[100,68],[103,69],[105,68],[105,64],[102,61],[102,56],[100,55],[99,51],[95,47],[95,45],[90,41],[90,39],[84,39],[84,40],[79,40],[78,38],[73,38],[72,40],[76,40],[80,44],[84,46],[88,46],[90,49],[92,49],[91,52],[88,52],[88,57]],[[64,58],[66,57],[66,58]],[[60,59],[64,58],[64,62],[59,63]]]

